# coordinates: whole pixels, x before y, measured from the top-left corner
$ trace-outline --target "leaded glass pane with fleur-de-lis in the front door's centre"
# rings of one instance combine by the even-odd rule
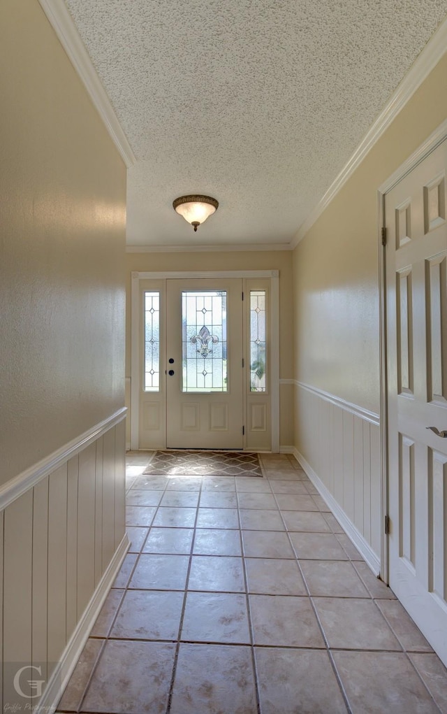
[[[182,330],[182,391],[226,392],[226,291],[183,291]]]

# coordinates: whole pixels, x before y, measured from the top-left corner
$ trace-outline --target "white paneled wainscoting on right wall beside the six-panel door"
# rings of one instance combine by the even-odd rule
[[[295,381],[294,454],[349,538],[379,575],[379,415]]]

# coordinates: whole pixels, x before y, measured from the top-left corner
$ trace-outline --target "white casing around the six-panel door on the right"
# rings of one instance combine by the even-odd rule
[[[399,181],[421,161],[426,159],[440,144],[447,139],[447,119],[440,124],[421,146],[394,171],[377,191],[378,206],[378,244],[379,244],[379,322],[380,322],[380,443],[381,443],[381,570],[380,575],[389,583],[389,536],[385,532],[385,518],[389,515],[389,465],[388,465],[388,378],[386,341],[386,244],[382,245],[382,232],[385,228],[385,196]]]

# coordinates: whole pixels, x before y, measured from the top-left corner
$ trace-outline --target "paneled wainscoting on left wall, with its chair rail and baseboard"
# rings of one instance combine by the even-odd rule
[[[11,670],[40,668],[33,707],[50,711],[128,549],[125,409],[1,488],[0,635],[3,711],[27,699]],[[3,632],[1,632],[3,624]]]

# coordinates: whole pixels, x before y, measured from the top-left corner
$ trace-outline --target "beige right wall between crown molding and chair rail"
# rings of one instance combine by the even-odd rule
[[[447,116],[447,56],[294,251],[295,377],[379,413],[377,189]]]

